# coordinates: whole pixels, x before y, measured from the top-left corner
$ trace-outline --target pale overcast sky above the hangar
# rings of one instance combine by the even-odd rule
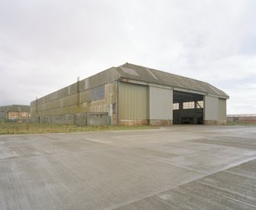
[[[256,113],[254,0],[0,0],[0,105],[29,105],[134,63],[224,90]]]

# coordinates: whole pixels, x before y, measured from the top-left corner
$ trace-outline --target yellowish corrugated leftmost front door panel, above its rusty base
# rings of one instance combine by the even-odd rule
[[[119,119],[147,119],[147,86],[119,83]]]

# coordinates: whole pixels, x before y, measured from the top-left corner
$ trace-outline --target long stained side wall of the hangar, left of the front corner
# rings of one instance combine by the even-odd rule
[[[36,99],[31,102],[30,121],[116,124],[117,80],[118,73],[111,68]]]

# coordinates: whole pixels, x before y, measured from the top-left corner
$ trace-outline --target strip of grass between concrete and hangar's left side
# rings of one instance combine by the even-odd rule
[[[119,131],[148,129],[151,126],[84,126],[78,127],[74,124],[38,124],[22,122],[0,122],[0,134],[47,134],[47,133],[68,133],[85,131]]]

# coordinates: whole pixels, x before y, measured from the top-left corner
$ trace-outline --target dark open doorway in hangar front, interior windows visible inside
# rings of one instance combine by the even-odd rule
[[[203,124],[203,95],[173,90],[173,124]]]

